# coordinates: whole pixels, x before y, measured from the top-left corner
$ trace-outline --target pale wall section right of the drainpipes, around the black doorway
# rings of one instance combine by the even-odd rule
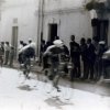
[[[57,23],[57,34],[69,46],[69,37],[92,37],[90,13],[84,10],[85,0],[45,0],[44,38],[48,37],[48,24]]]

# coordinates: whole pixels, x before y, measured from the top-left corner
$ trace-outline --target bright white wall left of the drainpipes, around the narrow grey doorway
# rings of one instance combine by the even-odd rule
[[[19,26],[19,41],[28,41],[37,35],[37,2],[35,0],[7,0],[2,8],[0,21],[0,41],[10,41],[12,26]],[[14,19],[18,19],[14,22]]]

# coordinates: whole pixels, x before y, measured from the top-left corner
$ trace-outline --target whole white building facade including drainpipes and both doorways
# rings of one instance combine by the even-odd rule
[[[70,35],[92,37],[90,13],[85,0],[6,0],[1,10],[0,41],[18,47],[31,37],[40,48],[41,36],[53,41],[59,36],[69,46]],[[37,48],[36,47],[36,48]]]

